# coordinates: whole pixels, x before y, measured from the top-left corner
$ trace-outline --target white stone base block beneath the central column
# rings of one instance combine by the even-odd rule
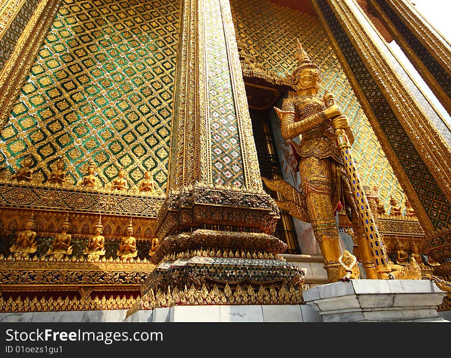
[[[149,321],[149,317],[152,319]],[[125,322],[322,322],[308,305],[173,306],[140,310]]]

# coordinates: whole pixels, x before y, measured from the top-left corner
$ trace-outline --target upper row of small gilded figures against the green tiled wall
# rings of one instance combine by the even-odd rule
[[[22,160],[22,167],[19,168],[12,176],[11,179],[17,181],[31,181],[33,178],[33,171],[30,169],[32,164],[30,157],[25,157]],[[55,185],[63,185],[66,181],[67,172],[65,171],[66,163],[63,159],[59,158],[56,161],[56,169],[50,173],[47,181]],[[97,174],[95,172],[95,164],[92,160],[88,164],[88,173],[81,178],[77,185],[81,187],[94,188],[97,186]],[[129,189],[129,183],[125,179],[126,171],[125,169],[119,169],[118,177],[115,178],[109,185],[114,190],[117,191],[127,191]],[[139,183],[140,192],[152,192],[155,190],[155,182],[151,179],[151,172],[146,171],[144,173],[144,179]]]

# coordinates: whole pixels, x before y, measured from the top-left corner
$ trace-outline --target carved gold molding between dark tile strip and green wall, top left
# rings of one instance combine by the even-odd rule
[[[52,23],[60,0],[42,0],[0,73],[0,124],[3,125],[27,78],[33,59]]]

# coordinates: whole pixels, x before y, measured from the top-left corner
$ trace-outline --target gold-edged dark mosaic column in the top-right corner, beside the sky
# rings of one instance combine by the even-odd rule
[[[371,0],[385,27],[451,114],[451,47],[405,0]]]

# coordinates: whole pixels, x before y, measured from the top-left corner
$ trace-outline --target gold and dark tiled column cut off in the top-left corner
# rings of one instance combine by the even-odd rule
[[[0,124],[11,113],[60,0],[5,1],[0,8]]]

